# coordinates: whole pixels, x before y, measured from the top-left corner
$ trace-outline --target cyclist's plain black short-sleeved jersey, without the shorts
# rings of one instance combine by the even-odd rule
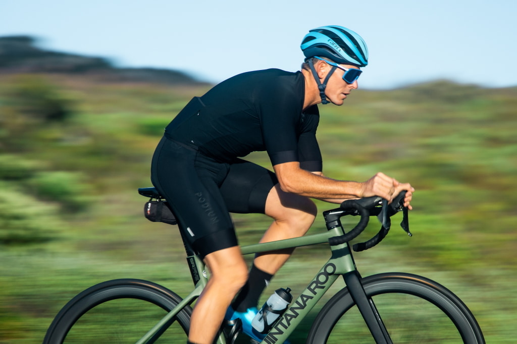
[[[165,136],[202,154],[229,162],[267,151],[272,165],[299,161],[322,170],[316,141],[316,105],[303,111],[301,72],[269,69],[239,74],[195,97],[165,128]]]

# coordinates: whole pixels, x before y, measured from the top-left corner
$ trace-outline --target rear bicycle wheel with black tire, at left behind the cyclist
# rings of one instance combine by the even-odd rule
[[[79,293],[59,311],[43,344],[134,343],[180,301],[171,290],[144,280],[102,282]],[[165,334],[185,343],[191,314],[190,306],[183,308],[170,321]],[[146,321],[149,323],[139,328],[139,323]],[[131,338],[132,332],[136,340]]]

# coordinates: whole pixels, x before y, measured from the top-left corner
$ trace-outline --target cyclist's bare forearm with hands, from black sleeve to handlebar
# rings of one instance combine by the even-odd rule
[[[273,169],[283,191],[332,203],[369,196],[380,196],[391,202],[394,196],[407,190],[404,205],[411,208],[409,202],[415,190],[408,183],[399,183],[381,172],[366,182],[352,182],[327,178],[321,172],[302,170],[297,161],[279,163]]]

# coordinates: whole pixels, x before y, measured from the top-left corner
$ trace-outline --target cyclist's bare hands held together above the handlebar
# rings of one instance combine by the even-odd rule
[[[413,209],[409,202],[411,202],[413,198],[415,189],[409,183],[400,183],[382,172],[378,172],[368,179],[368,181],[363,182],[361,190],[361,197],[379,196],[388,200],[390,203],[395,196],[403,190],[406,190],[404,206],[409,210]]]

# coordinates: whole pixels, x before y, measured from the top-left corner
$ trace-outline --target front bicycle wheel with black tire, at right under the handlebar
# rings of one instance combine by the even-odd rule
[[[382,273],[361,279],[394,343],[484,343],[478,322],[450,290],[425,277]],[[418,303],[418,308],[415,306]],[[373,342],[348,288],[341,289],[322,308],[307,343]]]

